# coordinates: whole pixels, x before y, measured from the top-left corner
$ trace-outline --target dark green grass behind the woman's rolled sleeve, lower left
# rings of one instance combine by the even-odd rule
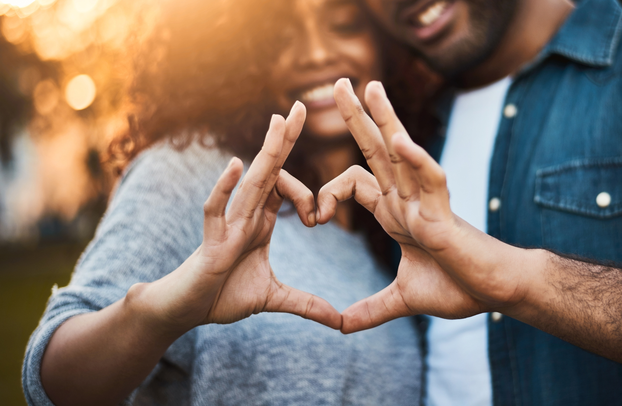
[[[65,286],[84,244],[0,247],[0,405],[26,405],[21,369],[26,343],[53,284]]]

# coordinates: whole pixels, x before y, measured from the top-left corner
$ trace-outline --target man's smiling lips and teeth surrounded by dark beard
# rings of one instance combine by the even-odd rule
[[[455,1],[437,0],[414,11],[406,11],[406,24],[412,26],[414,34],[420,40],[430,40],[440,34],[452,20]]]

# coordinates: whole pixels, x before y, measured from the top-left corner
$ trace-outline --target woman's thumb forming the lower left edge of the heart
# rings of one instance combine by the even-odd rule
[[[341,315],[321,297],[277,282],[279,287],[266,301],[263,311],[291,313],[339,330]]]

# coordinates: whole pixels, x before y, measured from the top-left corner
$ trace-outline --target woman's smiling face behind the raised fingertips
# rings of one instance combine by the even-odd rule
[[[272,91],[283,111],[296,100],[307,108],[305,133],[317,139],[350,136],[333,88],[350,78],[363,99],[371,80],[380,80],[378,45],[371,25],[354,1],[296,0],[299,24],[272,70]]]

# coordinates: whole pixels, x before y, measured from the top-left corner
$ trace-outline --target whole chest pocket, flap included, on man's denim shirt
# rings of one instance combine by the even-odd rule
[[[536,172],[545,247],[622,261],[622,157],[580,159]]]

